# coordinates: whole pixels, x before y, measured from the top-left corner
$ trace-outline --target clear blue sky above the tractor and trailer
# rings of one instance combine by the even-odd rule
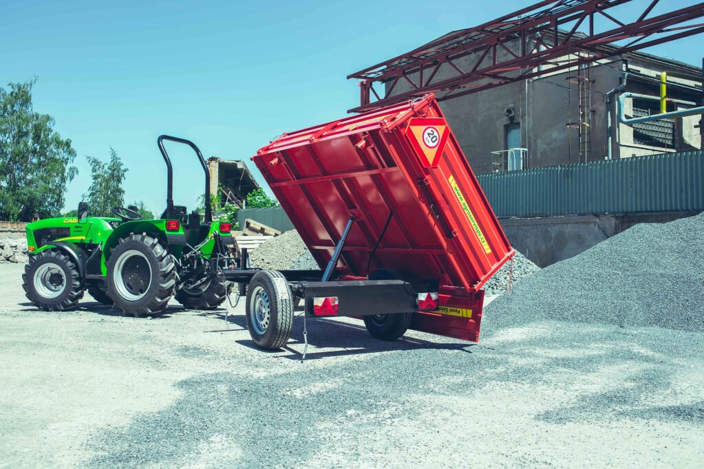
[[[107,159],[112,146],[129,168],[126,202],[161,212],[158,135],[191,139],[206,158],[249,162],[283,131],[346,115],[359,99],[349,73],[529,3],[0,0],[0,86],[39,78],[35,110],[52,115],[77,151],[66,207],[90,184],[84,156]],[[660,3],[652,14],[692,1]],[[690,37],[647,51],[700,64],[702,44]],[[170,148],[175,201],[194,207],[202,170]]]

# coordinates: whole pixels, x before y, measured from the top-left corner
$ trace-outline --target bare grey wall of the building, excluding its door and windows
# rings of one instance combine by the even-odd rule
[[[517,46],[513,46],[517,49]],[[508,59],[508,52],[499,50],[499,60]],[[478,60],[470,55],[455,60],[461,70],[472,70]],[[484,59],[491,60],[487,57]],[[628,64],[628,65],[627,65]],[[612,158],[653,155],[658,153],[686,151],[700,148],[698,129],[694,127],[699,117],[677,120],[677,143],[674,148],[646,146],[634,143],[633,129],[617,122],[617,97],[611,105],[606,102],[608,91],[614,89],[622,78],[622,71],[628,68],[638,70],[653,80],[660,72],[667,71],[667,63],[658,62],[657,58],[646,60],[641,56],[615,58],[601,61],[586,70],[573,68],[567,72],[546,72],[538,79],[505,84],[493,89],[441,101],[440,106],[458,138],[467,159],[478,174],[493,172],[496,166],[492,160],[497,158],[491,152],[507,149],[506,132],[510,124],[519,124],[521,146],[527,148],[524,167],[546,167],[564,165],[572,162],[596,161],[608,158],[608,116],[612,120]],[[429,72],[427,72],[428,74]],[[427,75],[426,74],[426,75]],[[442,65],[436,72],[433,82],[456,77],[458,72],[451,65]],[[590,91],[586,100],[582,100],[582,113],[579,106],[578,77],[588,77]],[[418,74],[408,75],[414,83],[419,82]],[[581,78],[584,83],[585,78]],[[659,78],[658,78],[659,79]],[[650,82],[642,79],[629,79],[624,91],[658,96],[657,80]],[[672,84],[693,86],[695,82],[683,79],[670,79]],[[386,84],[386,92],[391,89],[391,82]],[[391,89],[391,95],[408,91],[412,86],[404,79],[399,79]],[[444,92],[438,93],[442,96]],[[672,97],[693,101],[695,94],[678,91],[672,86]],[[587,102],[588,100],[588,102]],[[629,100],[630,101],[630,100]],[[627,102],[626,114],[632,111]],[[631,106],[631,108],[629,108]],[[505,110],[513,108],[515,115],[507,117]],[[572,126],[568,124],[572,124]],[[582,129],[582,139],[579,137]],[[618,135],[617,135],[618,132]],[[617,144],[617,136],[620,144]]]

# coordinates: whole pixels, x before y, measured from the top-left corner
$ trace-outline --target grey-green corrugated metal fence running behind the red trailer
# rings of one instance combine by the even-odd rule
[[[704,151],[479,174],[497,217],[704,210]],[[281,207],[240,210],[280,231],[293,229]]]

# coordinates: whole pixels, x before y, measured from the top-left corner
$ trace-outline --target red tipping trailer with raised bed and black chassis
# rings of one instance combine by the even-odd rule
[[[322,281],[282,272],[306,316],[479,339],[482,285],[514,251],[432,94],[283,134],[252,160],[327,266]]]

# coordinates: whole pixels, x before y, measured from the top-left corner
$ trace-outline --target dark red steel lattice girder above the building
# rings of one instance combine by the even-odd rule
[[[349,75],[348,78],[363,79],[363,81],[360,82],[360,88],[363,91],[360,93],[362,97],[360,101],[361,105],[348,112],[362,112],[384,105],[399,103],[430,92],[444,91],[444,95],[438,96],[439,100],[455,98],[521,79],[536,77],[546,72],[564,70],[565,68],[571,68],[582,63],[589,63],[620,53],[644,49],[648,46],[662,44],[667,41],[703,32],[703,29],[700,27],[701,25],[685,25],[677,28],[672,26],[703,17],[704,3],[681,8],[677,11],[671,11],[655,18],[646,19],[647,15],[659,1],[653,0],[644,8],[641,15],[639,15],[639,19],[634,23],[624,23],[614,18],[612,15],[603,12],[606,8],[612,8],[613,6],[629,1],[632,0],[541,1],[539,4],[506,15],[498,20],[485,23],[478,27],[462,30],[449,37],[436,39],[422,48],[403,54],[403,56],[386,60],[386,62],[375,65],[374,67]],[[525,13],[534,12],[548,5],[552,6],[538,11],[537,13],[525,15]],[[593,17],[596,14],[609,18],[612,23],[619,25],[619,27],[595,33]],[[515,18],[518,15],[525,16],[517,20]],[[584,23],[586,18],[589,18],[589,34],[580,34],[575,37],[577,28]],[[565,31],[564,33],[558,34],[560,25],[565,25],[565,23],[571,23],[573,21],[575,23],[569,32]],[[492,32],[492,30],[494,30],[494,32]],[[651,39],[650,41],[643,41],[643,39],[651,37],[653,34],[662,35],[674,30],[681,30],[681,32],[670,36],[661,36],[657,39]],[[461,39],[463,37],[466,39],[466,37],[472,36],[472,34],[482,35],[477,35],[476,39],[471,39],[463,44]],[[553,44],[546,44],[545,41],[540,39],[541,35],[552,35]],[[512,51],[510,47],[508,47],[508,42],[515,41],[517,37],[522,38],[522,40],[519,41],[520,51]],[[532,50],[527,50],[528,48],[525,44],[525,41],[529,38],[536,42]],[[636,40],[631,41],[626,46],[605,47],[610,42],[630,38]],[[449,48],[442,47],[443,44],[447,44],[448,41],[455,39],[458,41],[457,44],[453,44]],[[545,50],[537,50],[537,43],[542,44]],[[497,46],[510,53],[508,60],[502,61],[497,59]],[[432,52],[429,53],[428,51]],[[580,56],[579,53],[583,53],[583,51],[589,51],[589,56]],[[479,58],[471,70],[463,72],[453,60],[470,54],[477,55]],[[422,57],[424,55],[426,56]],[[565,57],[567,57],[567,60],[564,62],[557,65],[553,63],[553,60],[556,58]],[[489,63],[485,64],[485,60],[488,60]],[[399,65],[399,63],[401,63],[401,65]],[[448,64],[457,75],[432,83],[436,72],[441,68],[441,65],[444,64]],[[534,71],[533,69],[539,65],[548,65],[550,68],[541,72]],[[519,74],[515,73],[516,70],[522,69],[528,70]],[[429,77],[425,78],[424,70],[432,70]],[[504,75],[505,73],[512,73],[512,75]],[[412,74],[419,74],[418,84],[412,82],[410,77],[408,77],[408,75]],[[401,94],[389,96],[396,82],[398,82],[398,79],[401,79],[401,77],[412,84],[413,89],[404,91]],[[470,85],[472,82],[486,79],[492,79],[494,81]],[[392,86],[386,92],[386,96],[379,99],[379,94],[375,91],[373,84],[384,84],[389,81],[393,82]],[[377,96],[377,101],[370,101],[372,93]]]

